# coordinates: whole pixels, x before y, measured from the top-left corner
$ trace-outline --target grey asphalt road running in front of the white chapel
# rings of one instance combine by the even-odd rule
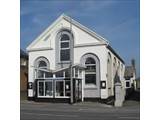
[[[139,120],[139,106],[111,107],[100,103],[21,102],[21,120]]]

